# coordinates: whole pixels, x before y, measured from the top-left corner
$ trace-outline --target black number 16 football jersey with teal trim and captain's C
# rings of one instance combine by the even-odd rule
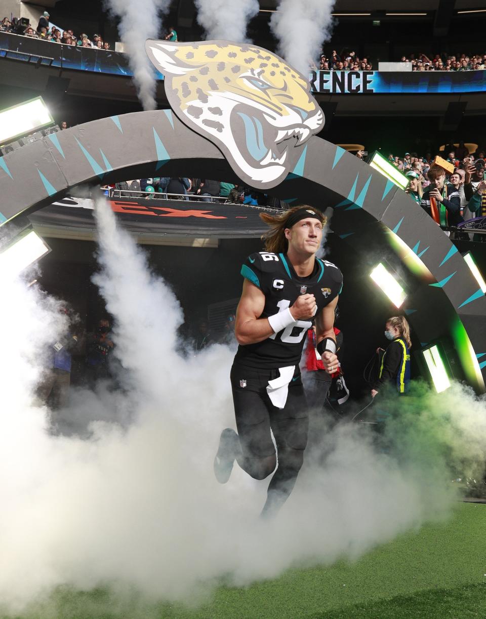
[[[315,259],[311,275],[298,277],[286,254],[260,251],[245,260],[241,274],[265,295],[265,307],[262,316],[258,318],[267,318],[278,311],[284,311],[294,304],[299,295],[305,294],[314,295],[318,313],[343,288],[343,274],[338,267],[320,258]],[[299,320],[262,342],[240,345],[235,360],[255,368],[298,365],[305,335],[313,323],[314,318]]]

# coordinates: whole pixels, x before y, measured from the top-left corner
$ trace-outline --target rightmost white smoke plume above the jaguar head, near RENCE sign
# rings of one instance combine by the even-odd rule
[[[331,37],[335,0],[279,0],[270,19],[271,32],[278,39],[278,53],[289,64],[309,74],[321,46]]]

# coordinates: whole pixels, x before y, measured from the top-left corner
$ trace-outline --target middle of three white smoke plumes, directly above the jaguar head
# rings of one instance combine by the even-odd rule
[[[195,0],[197,21],[207,39],[247,42],[247,25],[260,10],[258,0]]]

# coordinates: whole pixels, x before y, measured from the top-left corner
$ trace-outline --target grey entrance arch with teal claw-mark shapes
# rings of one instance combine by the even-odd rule
[[[404,311],[423,344],[441,335],[434,331],[441,315],[467,382],[483,392],[486,297],[458,249],[409,196],[357,157],[317,136],[297,148],[294,170],[268,193],[290,206],[332,207],[333,232],[357,251],[380,253],[386,237],[404,262],[405,254],[412,256],[417,285]],[[19,215],[82,183],[191,171],[238,180],[220,150],[170,110],[111,116],[54,133],[0,158],[0,233]]]

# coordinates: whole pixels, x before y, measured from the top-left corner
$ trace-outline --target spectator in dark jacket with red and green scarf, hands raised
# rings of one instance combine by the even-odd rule
[[[445,170],[433,165],[428,170],[428,179],[430,186],[425,189],[420,206],[441,227],[458,225],[463,220],[461,199],[456,188],[445,182]]]

